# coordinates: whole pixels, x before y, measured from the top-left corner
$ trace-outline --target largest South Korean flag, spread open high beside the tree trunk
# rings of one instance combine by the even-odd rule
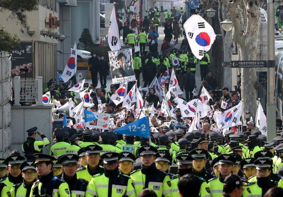
[[[202,59],[215,40],[213,28],[201,16],[194,14],[184,23],[184,29],[193,54]]]

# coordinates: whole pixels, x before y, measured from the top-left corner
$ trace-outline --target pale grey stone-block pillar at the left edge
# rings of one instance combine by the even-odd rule
[[[0,158],[6,158],[11,145],[11,60],[9,54],[0,52]]]

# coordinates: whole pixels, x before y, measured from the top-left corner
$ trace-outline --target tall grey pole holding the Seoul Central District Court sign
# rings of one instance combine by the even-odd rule
[[[267,141],[276,137],[274,2],[267,0]]]

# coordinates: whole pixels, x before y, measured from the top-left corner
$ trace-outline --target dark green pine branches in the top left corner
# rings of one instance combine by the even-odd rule
[[[13,19],[17,24],[21,25],[21,32],[28,29],[26,12],[37,10],[38,0],[0,0],[1,12],[10,12],[7,20]],[[11,35],[0,24],[0,51],[11,52],[17,48],[20,39],[17,34]]]

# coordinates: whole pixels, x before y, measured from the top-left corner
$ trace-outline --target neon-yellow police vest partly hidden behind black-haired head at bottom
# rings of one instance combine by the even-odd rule
[[[200,197],[210,197],[210,191],[209,191],[209,188],[208,188],[208,185],[205,181],[205,179],[201,178],[201,177],[198,177],[199,180],[201,180],[203,183],[202,185],[200,186],[200,190],[199,190],[199,196]],[[177,176],[174,176],[173,178],[171,178],[171,180],[169,181],[169,184],[170,185],[170,188],[171,188],[171,196],[172,197],[179,197],[180,194],[179,194],[179,189],[178,189],[178,181],[179,181],[179,175]]]

